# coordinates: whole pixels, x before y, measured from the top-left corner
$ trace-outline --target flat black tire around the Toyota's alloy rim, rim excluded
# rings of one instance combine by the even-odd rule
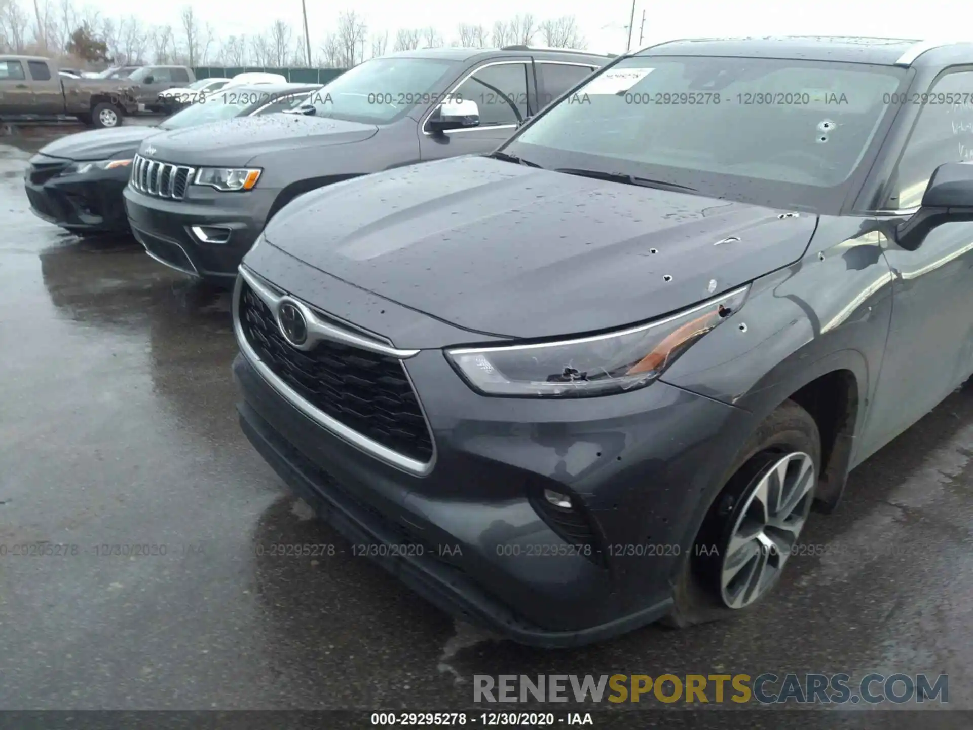
[[[750,610],[728,607],[720,598],[719,560],[726,548],[730,528],[739,517],[741,496],[771,465],[788,453],[811,456],[815,478],[821,473],[821,438],[811,414],[791,400],[784,401],[764,420],[740,450],[723,490],[709,507],[690,554],[686,556],[673,588],[674,603],[662,624],[686,628],[728,618]],[[813,490],[809,498],[813,498]],[[717,551],[712,547],[717,546]],[[786,569],[786,565],[783,566]],[[773,589],[771,589],[773,590]],[[756,603],[759,603],[760,599]]]

